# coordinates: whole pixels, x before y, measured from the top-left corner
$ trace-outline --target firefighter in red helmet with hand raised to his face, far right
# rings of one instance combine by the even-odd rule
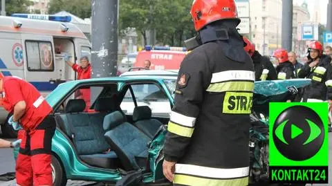
[[[303,102],[329,102],[329,112],[332,105],[332,66],[331,57],[323,55],[323,45],[320,41],[308,44],[308,62],[297,73],[299,78],[310,78],[311,84],[304,88]],[[331,119],[331,118],[330,118]],[[331,122],[329,126],[331,131]]]

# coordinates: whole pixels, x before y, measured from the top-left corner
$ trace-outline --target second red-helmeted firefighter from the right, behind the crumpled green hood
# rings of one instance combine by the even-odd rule
[[[279,65],[276,68],[278,80],[288,80],[295,78],[294,66],[288,61],[288,52],[284,49],[277,49],[273,53],[273,57],[278,59]]]

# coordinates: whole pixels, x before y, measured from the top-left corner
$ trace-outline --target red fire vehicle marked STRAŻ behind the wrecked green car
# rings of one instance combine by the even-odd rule
[[[143,67],[145,60],[151,62],[151,70],[178,70],[180,64],[189,53],[184,47],[145,46],[145,50],[138,52],[134,67]]]

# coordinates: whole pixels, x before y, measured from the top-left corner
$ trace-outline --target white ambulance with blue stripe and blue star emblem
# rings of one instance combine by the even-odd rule
[[[0,76],[17,76],[33,84],[46,96],[58,84],[76,79],[64,62],[64,55],[75,63],[91,56],[91,44],[71,17],[13,14],[0,16]],[[7,124],[10,114],[0,105],[3,135],[15,138],[17,132]]]

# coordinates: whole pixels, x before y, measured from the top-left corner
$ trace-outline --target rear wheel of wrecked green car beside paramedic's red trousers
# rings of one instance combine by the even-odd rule
[[[53,186],[66,185],[66,174],[61,163],[54,155],[52,155],[52,163],[50,164],[50,167],[52,167]]]

